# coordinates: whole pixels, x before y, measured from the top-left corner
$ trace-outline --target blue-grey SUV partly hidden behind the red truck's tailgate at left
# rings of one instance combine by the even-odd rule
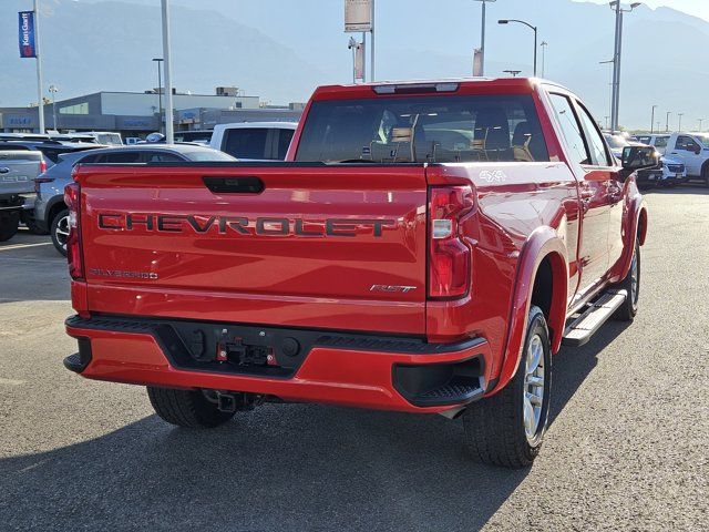
[[[209,147],[179,144],[138,144],[124,147],[103,147],[73,152],[59,156],[59,163],[37,180],[34,223],[52,236],[59,253],[66,255],[69,211],[64,203],[64,187],[72,182],[71,172],[76,164],[136,164],[169,162],[234,162],[230,155]]]

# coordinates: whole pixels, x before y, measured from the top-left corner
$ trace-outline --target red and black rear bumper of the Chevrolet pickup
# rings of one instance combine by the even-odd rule
[[[297,367],[279,374],[279,368],[266,366],[242,371],[216,361],[186,360],[181,355],[191,349],[184,342],[185,327],[209,331],[219,330],[223,324],[73,316],[66,320],[66,332],[79,339],[80,349],[64,365],[97,380],[242,391],[286,401],[408,412],[454,410],[491,388],[491,352],[482,338],[443,345],[325,330],[243,327],[263,331],[266,338],[286,332],[309,342]],[[257,375],[261,371],[271,372]]]

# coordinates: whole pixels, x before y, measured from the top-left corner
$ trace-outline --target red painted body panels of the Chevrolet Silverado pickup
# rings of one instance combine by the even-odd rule
[[[477,336],[487,341],[486,380],[497,379],[496,391],[516,370],[531,289],[542,262],[548,262],[554,275],[547,320],[556,351],[569,311],[623,278],[636,234],[641,243],[645,237],[645,229],[638,233],[638,219],[647,215],[634,178],[623,183],[617,166],[587,167],[567,160],[547,91],[571,94],[521,79],[465,81],[458,94],[532,93],[551,162],[80,168],[86,282],[72,284],[74,308],[82,315],[415,335],[432,342]],[[316,100],[364,98],[388,96],[374,94],[369,85],[320,88],[314,95]],[[494,172],[503,177],[491,181]],[[258,195],[213,194],[202,182],[205,175],[258,176],[266,188]],[[430,186],[444,185],[467,185],[473,191],[474,206],[459,224],[460,237],[472,250],[470,291],[461,299],[427,300],[427,198]],[[209,216],[285,217],[289,232],[265,236],[222,235],[216,227],[204,234],[97,228],[99,214],[126,212],[194,214],[202,216],[201,223]],[[325,221],[332,217],[395,223],[384,227],[381,237],[368,225],[356,226],[354,236],[294,234],[296,219],[322,234]],[[250,233],[254,226],[249,222]],[[109,268],[155,272],[158,278],[92,274]],[[372,285],[414,289],[371,291]],[[91,378],[422,410],[391,389],[391,365],[401,361],[399,355],[318,348],[286,382],[178,371],[168,367],[150,337],[70,332],[92,338],[95,360],[83,374]],[[440,358],[421,356],[414,362],[433,360]]]

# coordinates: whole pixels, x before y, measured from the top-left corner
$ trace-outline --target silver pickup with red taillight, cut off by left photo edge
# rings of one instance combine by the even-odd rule
[[[25,209],[34,206],[34,180],[44,170],[41,152],[0,151],[0,242],[14,236]]]

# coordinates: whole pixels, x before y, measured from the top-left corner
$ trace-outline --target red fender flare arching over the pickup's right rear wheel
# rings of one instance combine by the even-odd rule
[[[512,308],[510,309],[510,328],[507,329],[507,339],[504,349],[505,358],[502,362],[497,382],[489,395],[501,390],[514,377],[517,370],[520,356],[524,347],[524,334],[527,327],[534,279],[540,265],[547,257],[552,267],[554,287],[547,325],[552,336],[552,352],[558,351],[566,320],[568,293],[567,256],[564,241],[558,236],[556,231],[548,226],[535,229],[522,248],[517,262]]]

